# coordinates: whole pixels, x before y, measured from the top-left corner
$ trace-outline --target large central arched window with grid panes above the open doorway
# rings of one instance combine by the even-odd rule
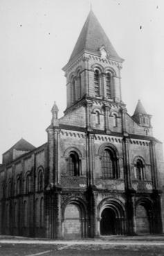
[[[109,149],[105,149],[102,153],[102,178],[118,178],[116,159]]]

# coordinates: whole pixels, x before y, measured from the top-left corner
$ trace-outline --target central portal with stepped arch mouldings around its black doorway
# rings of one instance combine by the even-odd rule
[[[125,209],[118,200],[109,199],[100,207],[100,235],[125,234]]]

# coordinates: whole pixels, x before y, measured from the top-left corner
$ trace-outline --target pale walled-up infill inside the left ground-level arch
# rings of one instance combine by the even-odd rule
[[[64,212],[64,238],[75,239],[82,236],[82,210],[79,205],[69,203]]]

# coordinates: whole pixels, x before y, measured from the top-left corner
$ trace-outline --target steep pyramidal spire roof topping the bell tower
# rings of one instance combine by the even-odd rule
[[[93,52],[97,51],[100,53],[99,49],[102,46],[104,46],[110,58],[122,62],[123,59],[118,56],[118,53],[116,53],[116,50],[113,48],[113,45],[98,22],[98,19],[91,10],[86,18],[86,22],[84,23],[69,61],[77,56],[82,50],[89,50]]]

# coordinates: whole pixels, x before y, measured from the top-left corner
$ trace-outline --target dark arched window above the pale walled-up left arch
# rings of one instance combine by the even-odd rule
[[[80,176],[80,159],[75,151],[71,151],[67,159],[67,173],[69,176]]]

